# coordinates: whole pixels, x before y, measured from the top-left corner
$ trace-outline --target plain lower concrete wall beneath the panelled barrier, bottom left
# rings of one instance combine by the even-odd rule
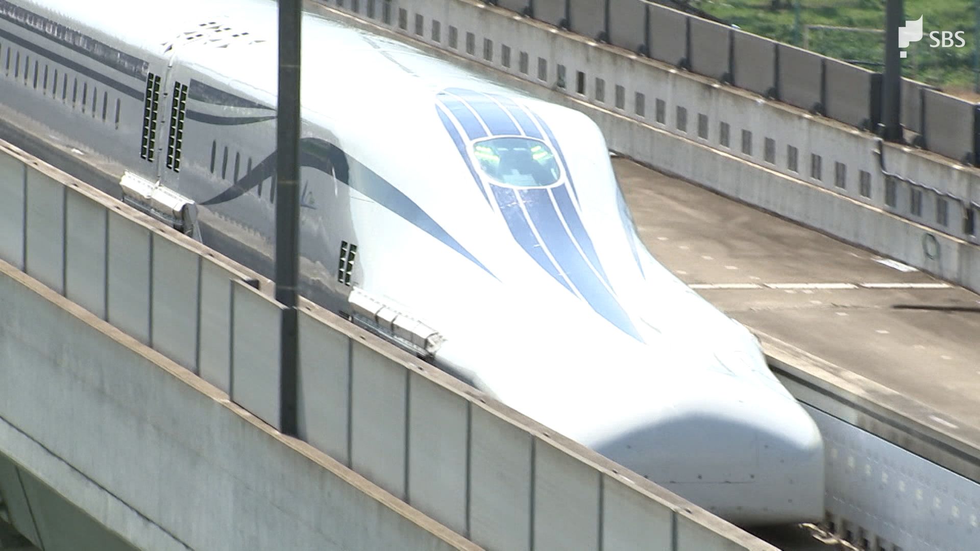
[[[0,453],[134,547],[475,549],[3,266],[0,305]]]

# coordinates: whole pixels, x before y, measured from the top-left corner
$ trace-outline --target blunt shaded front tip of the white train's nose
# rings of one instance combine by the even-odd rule
[[[588,445],[741,526],[820,520],[823,441],[807,412],[758,385],[714,382]]]

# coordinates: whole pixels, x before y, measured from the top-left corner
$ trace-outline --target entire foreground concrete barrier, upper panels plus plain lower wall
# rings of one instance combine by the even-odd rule
[[[8,189],[14,179],[16,189],[29,160],[3,144],[0,159],[8,170],[0,173],[0,185]],[[0,389],[0,418],[192,548],[242,548],[245,542],[312,548],[310,538],[318,534],[296,523],[327,526],[324,533],[339,541],[332,529],[379,519],[392,523],[390,530],[370,537],[408,530],[408,543],[378,539],[361,548],[430,549],[462,541],[446,536],[438,544],[424,543],[429,535],[413,535],[414,528],[391,521],[384,508],[367,514],[340,505],[352,499],[354,489],[339,489],[340,482],[312,474],[323,464],[310,458],[322,456],[299,442],[286,446],[277,435],[281,307],[267,294],[266,281],[260,281],[263,291],[256,290],[243,282],[251,273],[205,254],[172,229],[118,208],[99,192],[64,185],[71,178],[52,169],[27,170],[44,176],[27,179],[25,196],[28,202],[34,198],[36,209],[43,210],[43,200],[62,204],[73,194],[103,209],[107,231],[87,234],[84,245],[77,244],[86,235],[79,233],[72,242],[97,251],[98,243],[108,243],[107,317],[125,322],[135,334],[124,335],[61,293],[0,265],[0,307],[17,313],[0,320],[0,368],[13,374]],[[31,194],[32,181],[60,185],[63,192]],[[21,203],[14,212],[25,209]],[[31,211],[26,212],[30,224]],[[28,263],[32,254],[27,249]],[[63,258],[73,254],[66,250]],[[123,271],[114,254],[136,261]],[[191,292],[170,305],[156,297],[161,292],[161,298],[172,298],[185,286]],[[131,311],[116,310],[122,300],[116,292],[133,301]],[[222,308],[225,314],[213,312]],[[300,436],[376,484],[368,494],[381,492],[417,506],[491,549],[566,549],[569,542],[579,549],[637,548],[651,538],[679,550],[772,549],[312,303],[304,301],[299,322]],[[180,369],[144,345],[175,351],[188,365]],[[71,359],[61,349],[71,349]],[[31,362],[41,366],[27,369]],[[202,378],[191,373],[195,364]],[[59,404],[52,407],[50,401]],[[91,426],[101,428],[93,435],[85,429]],[[271,437],[257,437],[247,426]],[[297,450],[297,457],[283,457]],[[156,476],[148,479],[146,473]],[[317,481],[311,483],[311,476]],[[341,501],[325,506],[324,493]],[[97,513],[100,521],[111,522]],[[326,514],[330,520],[318,517]],[[648,525],[644,520],[651,515]],[[563,519],[575,522],[563,526]],[[235,534],[223,531],[232,527]],[[119,529],[139,545],[130,539],[134,534]],[[288,529],[296,532],[284,533]],[[352,533],[344,537],[368,537],[345,529]]]

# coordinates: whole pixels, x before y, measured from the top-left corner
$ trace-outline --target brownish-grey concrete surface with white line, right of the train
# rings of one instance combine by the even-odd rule
[[[614,166],[648,248],[719,308],[946,423],[980,427],[980,296],[633,162]]]

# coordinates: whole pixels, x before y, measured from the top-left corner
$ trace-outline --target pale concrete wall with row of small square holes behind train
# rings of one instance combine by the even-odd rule
[[[501,77],[512,76],[509,85],[588,114],[614,151],[980,290],[980,275],[965,269],[980,254],[980,173],[973,169],[909,147],[882,144],[854,127],[657,61],[628,57],[581,36],[515,19],[506,10],[468,0],[399,0],[399,6],[425,22],[459,24],[461,33],[486,37],[498,48],[511,48],[515,56],[545,60],[548,72],[539,79],[533,67],[528,75],[516,64],[505,67],[499,57],[488,62],[482,56],[460,54],[476,72],[492,68]],[[660,10],[650,6],[651,30],[664,17],[684,16]],[[337,12],[324,13],[373,32],[400,33],[397,26],[368,25]],[[666,15],[655,18],[655,13]],[[664,28],[662,36],[673,40],[676,33],[670,35]],[[460,63],[457,52],[443,42],[429,36],[413,38]],[[651,44],[656,44],[653,34]],[[670,47],[674,53],[665,57],[672,59],[681,46],[674,42]],[[658,56],[656,51],[651,55]],[[561,72],[564,88],[557,85]],[[583,94],[573,85],[577,72],[586,83]],[[597,77],[605,81],[602,100],[596,97]],[[621,105],[611,101],[610,91],[616,86],[623,88]],[[908,200],[913,190],[921,194],[920,209],[913,209]],[[939,243],[938,254],[932,239]]]

